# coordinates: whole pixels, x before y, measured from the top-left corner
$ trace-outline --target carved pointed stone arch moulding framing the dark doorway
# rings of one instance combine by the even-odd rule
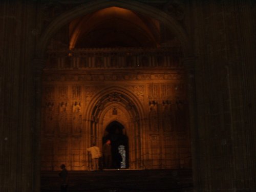
[[[114,111],[116,110],[116,111]],[[116,114],[115,114],[116,113]],[[98,92],[87,111],[90,127],[90,140],[102,146],[106,127],[118,121],[125,129],[123,133],[128,137],[136,138],[127,146],[127,162],[130,168],[141,166],[141,154],[145,153],[145,146],[141,139],[144,134],[144,111],[141,102],[129,90],[120,87],[110,87]]]

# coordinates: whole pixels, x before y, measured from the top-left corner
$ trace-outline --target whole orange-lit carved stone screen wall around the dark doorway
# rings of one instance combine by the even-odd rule
[[[62,163],[90,169],[86,148],[93,142],[101,148],[113,122],[127,138],[126,168],[191,168],[186,74],[178,56],[159,49],[64,53],[49,53],[44,70],[41,170]]]

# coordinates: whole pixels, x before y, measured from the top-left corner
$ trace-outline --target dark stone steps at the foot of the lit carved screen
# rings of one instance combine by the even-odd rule
[[[59,172],[41,173],[41,192],[60,191]],[[192,191],[191,169],[70,171],[68,191]]]

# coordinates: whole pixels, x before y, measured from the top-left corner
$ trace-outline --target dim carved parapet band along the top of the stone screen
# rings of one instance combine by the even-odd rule
[[[173,44],[172,44],[173,45]],[[49,60],[54,58],[60,63],[57,69],[85,69],[85,68],[182,68],[176,58],[181,57],[180,45],[165,47],[164,49],[67,49],[65,43],[52,39],[49,46]],[[47,68],[54,65],[47,65]],[[72,63],[75,65],[72,65]]]

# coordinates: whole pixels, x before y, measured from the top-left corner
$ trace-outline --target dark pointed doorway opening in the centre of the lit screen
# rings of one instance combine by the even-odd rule
[[[118,121],[111,122],[106,126],[102,143],[111,140],[112,168],[129,167],[129,142],[124,126]]]

